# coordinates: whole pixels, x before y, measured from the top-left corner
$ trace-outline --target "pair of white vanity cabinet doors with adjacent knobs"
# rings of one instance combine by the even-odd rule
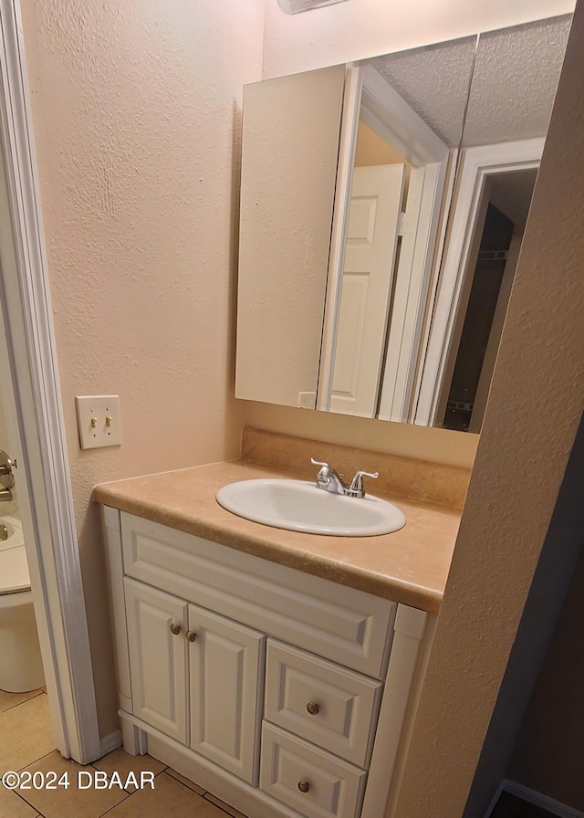
[[[255,783],[266,636],[124,579],[132,712]]]

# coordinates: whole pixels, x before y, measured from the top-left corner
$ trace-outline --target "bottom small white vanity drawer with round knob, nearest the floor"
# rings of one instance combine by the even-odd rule
[[[264,722],[260,787],[308,818],[357,818],[367,773]]]

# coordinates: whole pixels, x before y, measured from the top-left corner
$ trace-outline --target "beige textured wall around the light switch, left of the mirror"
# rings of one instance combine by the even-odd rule
[[[36,153],[100,731],[116,728],[97,482],[236,456],[242,86],[263,0],[26,0]],[[245,36],[242,36],[245,33]],[[82,452],[74,396],[119,393]],[[152,485],[155,491],[155,484]]]

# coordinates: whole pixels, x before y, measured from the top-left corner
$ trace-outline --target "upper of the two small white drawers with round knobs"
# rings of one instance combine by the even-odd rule
[[[381,682],[272,639],[267,643],[266,719],[366,767]]]

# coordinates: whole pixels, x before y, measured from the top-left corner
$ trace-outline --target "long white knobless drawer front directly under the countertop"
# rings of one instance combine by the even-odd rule
[[[142,582],[381,678],[396,603],[121,514],[124,570]]]

